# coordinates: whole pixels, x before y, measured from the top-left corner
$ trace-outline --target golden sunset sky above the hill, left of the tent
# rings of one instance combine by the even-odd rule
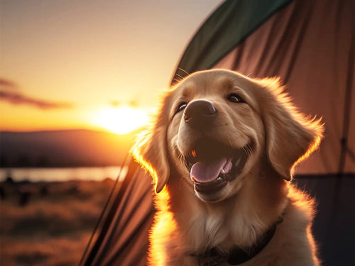
[[[142,121],[222,0],[0,0],[0,131]]]

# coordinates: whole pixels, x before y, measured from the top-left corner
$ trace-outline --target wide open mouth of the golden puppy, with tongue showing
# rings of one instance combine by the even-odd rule
[[[243,171],[250,145],[234,149],[216,140],[200,140],[186,156],[196,192],[212,194],[233,181]]]

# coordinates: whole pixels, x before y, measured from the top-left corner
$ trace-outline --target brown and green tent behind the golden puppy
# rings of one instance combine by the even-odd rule
[[[226,0],[187,45],[171,85],[211,68],[281,77],[303,113],[322,116],[320,150],[294,182],[317,200],[313,226],[324,265],[354,259],[354,0]],[[151,179],[128,159],[80,265],[145,265]]]

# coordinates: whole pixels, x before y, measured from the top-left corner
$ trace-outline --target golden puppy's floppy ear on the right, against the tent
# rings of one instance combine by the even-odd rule
[[[320,120],[306,118],[290,102],[280,79],[262,79],[261,99],[266,133],[266,155],[273,168],[286,180],[292,179],[293,168],[320,144],[323,125]]]

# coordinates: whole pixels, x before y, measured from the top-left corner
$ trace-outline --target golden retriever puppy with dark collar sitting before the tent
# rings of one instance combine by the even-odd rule
[[[190,74],[133,147],[153,177],[149,265],[319,265],[315,202],[291,179],[317,149],[278,78]]]

